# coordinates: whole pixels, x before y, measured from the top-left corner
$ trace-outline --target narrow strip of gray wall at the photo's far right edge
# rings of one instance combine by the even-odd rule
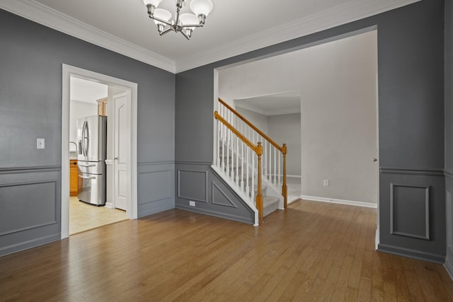
[[[445,191],[447,257],[445,267],[453,276],[453,2],[445,1]]]

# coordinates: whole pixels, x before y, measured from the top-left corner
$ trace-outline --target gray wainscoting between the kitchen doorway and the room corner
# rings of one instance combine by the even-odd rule
[[[143,217],[175,207],[173,163],[139,163],[138,213]]]

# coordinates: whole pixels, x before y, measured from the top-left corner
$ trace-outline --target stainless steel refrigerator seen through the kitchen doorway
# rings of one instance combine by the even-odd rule
[[[79,200],[98,206],[104,205],[107,117],[92,115],[77,120],[77,141]]]

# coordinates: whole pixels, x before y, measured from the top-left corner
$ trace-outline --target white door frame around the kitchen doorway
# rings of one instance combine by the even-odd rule
[[[109,86],[118,86],[130,91],[130,158],[127,170],[127,195],[130,200],[130,211],[127,218],[137,219],[137,83],[98,74],[94,71],[62,64],[62,207],[61,238],[69,237],[69,104],[70,78],[76,76]]]

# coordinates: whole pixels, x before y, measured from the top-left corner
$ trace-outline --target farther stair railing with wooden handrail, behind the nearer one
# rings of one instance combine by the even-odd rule
[[[276,188],[281,186],[283,205],[285,209],[288,204],[287,176],[286,176],[286,156],[287,146],[279,146],[270,139],[258,127],[249,122],[239,112],[231,108],[224,100],[219,98],[219,115],[224,117],[226,122],[239,129],[246,139],[250,141],[264,141],[263,143],[263,177]],[[280,165],[282,163],[282,165]]]

